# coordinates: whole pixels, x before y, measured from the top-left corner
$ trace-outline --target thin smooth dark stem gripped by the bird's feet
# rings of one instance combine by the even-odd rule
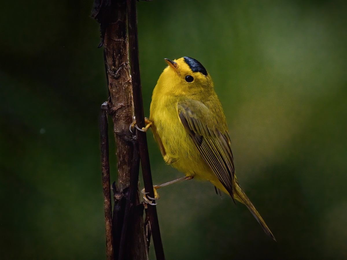
[[[134,93],[134,108],[136,123],[138,127],[144,127],[144,112],[142,102],[142,89],[140,80],[140,68],[138,58],[138,40],[137,40],[137,20],[136,20],[136,0],[127,0],[128,14],[128,31],[129,31],[129,51],[130,51],[130,69],[132,72],[132,84]],[[150,160],[147,148],[146,133],[137,131],[139,142],[139,153],[141,158],[141,167],[143,174],[143,182],[145,191],[149,192],[149,196],[154,198],[152,174]],[[148,216],[151,225],[151,232],[155,255],[157,260],[165,259],[163,245],[161,241],[160,228],[156,207],[147,205]]]

